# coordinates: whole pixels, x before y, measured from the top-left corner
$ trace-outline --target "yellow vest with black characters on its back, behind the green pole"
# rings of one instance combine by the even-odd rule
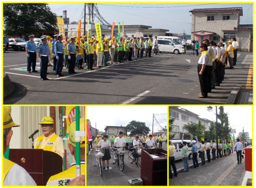
[[[83,164],[82,164],[83,163]],[[81,175],[85,174],[85,164],[81,161]],[[53,175],[49,178],[46,186],[66,186],[70,181],[75,178],[75,164],[68,170],[65,170],[59,174]]]

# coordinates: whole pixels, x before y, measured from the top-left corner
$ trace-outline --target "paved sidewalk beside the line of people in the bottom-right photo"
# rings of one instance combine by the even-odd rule
[[[177,186],[240,186],[245,175],[245,159],[237,164],[236,152],[218,158],[189,172],[179,173],[169,179],[169,185]]]

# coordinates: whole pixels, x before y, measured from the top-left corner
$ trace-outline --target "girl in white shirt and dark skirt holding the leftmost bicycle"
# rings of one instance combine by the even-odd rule
[[[109,148],[110,148],[110,143],[107,140],[108,136],[104,135],[103,136],[103,140],[101,140],[98,145],[96,145],[93,148],[105,148],[105,152],[104,152],[104,156],[102,157],[102,166],[103,166],[103,170],[109,170],[109,159],[111,159],[111,155],[109,152]],[[105,168],[105,160],[107,160],[107,168]]]

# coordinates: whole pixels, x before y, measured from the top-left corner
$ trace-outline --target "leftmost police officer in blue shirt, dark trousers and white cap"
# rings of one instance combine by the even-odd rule
[[[27,57],[27,72],[31,73],[31,65],[32,65],[32,72],[38,72],[36,70],[36,63],[37,63],[37,47],[34,42],[34,35],[30,35],[29,41],[26,42],[26,57]]]

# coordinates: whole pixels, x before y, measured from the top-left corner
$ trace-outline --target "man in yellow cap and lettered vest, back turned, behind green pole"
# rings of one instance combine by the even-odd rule
[[[80,131],[85,130],[85,119],[80,118]],[[73,122],[70,125],[69,130],[69,137],[68,137],[68,148],[71,152],[71,154],[75,157],[76,154],[76,148],[75,148],[75,122]],[[81,174],[85,174],[85,135],[84,137],[81,137],[80,141],[80,157],[81,157]],[[51,176],[46,184],[46,186],[64,186],[68,185],[70,181],[72,181],[75,178],[75,164],[72,163],[70,168],[68,170],[65,170],[59,174],[56,174],[54,176]],[[85,183],[85,181],[84,181]],[[83,184],[84,185],[84,184]]]

